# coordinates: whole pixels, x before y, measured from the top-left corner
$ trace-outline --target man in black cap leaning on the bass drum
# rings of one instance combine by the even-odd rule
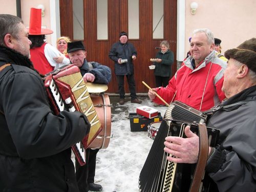
[[[108,84],[111,80],[111,69],[107,66],[100,65],[97,62],[87,62],[86,48],[82,41],[68,42],[67,52],[70,61],[80,68],[81,75],[85,82],[95,82]],[[102,186],[94,183],[96,155],[99,149],[86,150],[86,165],[80,166],[76,160],[76,180],[80,192],[101,191]]]

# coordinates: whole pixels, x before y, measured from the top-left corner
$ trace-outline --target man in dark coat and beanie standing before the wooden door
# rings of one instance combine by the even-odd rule
[[[137,98],[133,60],[136,59],[137,51],[133,44],[128,41],[127,33],[122,31],[119,34],[119,41],[113,44],[109,57],[115,61],[115,74],[118,81],[118,92],[120,96],[119,104],[124,104],[124,76],[127,78],[132,103],[141,103]]]

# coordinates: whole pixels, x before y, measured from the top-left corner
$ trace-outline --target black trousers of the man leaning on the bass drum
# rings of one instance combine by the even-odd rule
[[[95,167],[96,167],[96,156],[99,149],[92,150],[88,148],[86,150],[86,164],[80,166],[76,161],[76,180],[80,192],[89,190],[89,183],[94,183]]]

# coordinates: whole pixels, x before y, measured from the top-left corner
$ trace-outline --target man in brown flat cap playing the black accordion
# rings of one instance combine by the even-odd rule
[[[225,52],[228,66],[222,90],[226,100],[207,121],[220,130],[216,147],[209,147],[205,174],[210,177],[208,191],[256,191],[256,38]],[[199,138],[189,130],[187,138],[167,137],[164,151],[176,163],[196,163]]]

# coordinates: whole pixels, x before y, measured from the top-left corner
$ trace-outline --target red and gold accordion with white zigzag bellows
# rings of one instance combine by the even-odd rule
[[[63,110],[79,111],[86,115],[91,123],[90,133],[81,142],[72,146],[72,150],[82,166],[86,164],[85,150],[101,132],[102,126],[80,70],[75,65],[68,65],[52,71],[44,79],[47,94],[56,115]]]

